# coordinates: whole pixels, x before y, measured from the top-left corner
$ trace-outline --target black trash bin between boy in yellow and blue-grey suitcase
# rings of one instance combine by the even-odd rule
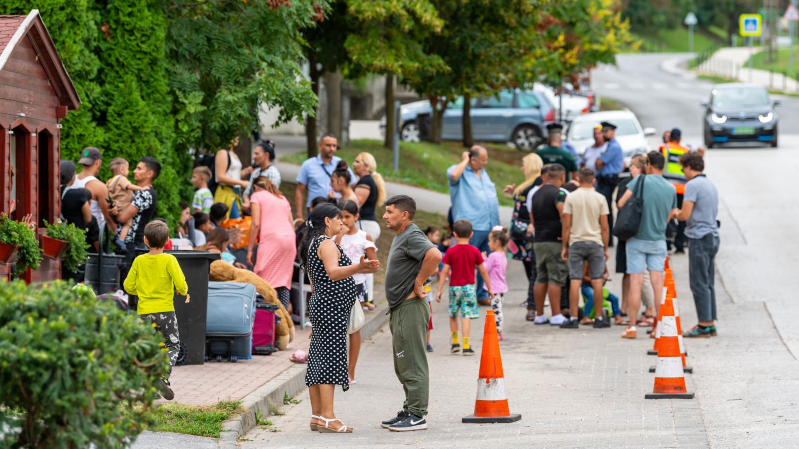
[[[147,252],[141,249],[137,256]],[[208,316],[208,280],[210,265],[218,260],[218,252],[167,250],[181,265],[186,284],[189,285],[191,302],[175,293],[175,315],[177,332],[181,335],[181,353],[178,365],[201,365],[205,362],[205,317]]]

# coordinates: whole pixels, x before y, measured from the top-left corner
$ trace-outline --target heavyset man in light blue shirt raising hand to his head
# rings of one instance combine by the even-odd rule
[[[463,152],[463,160],[447,169],[454,221],[471,222],[473,235],[469,244],[488,252],[488,234],[499,224],[497,189],[486,172],[488,152],[474,145]],[[487,301],[482,276],[477,276],[477,300]]]

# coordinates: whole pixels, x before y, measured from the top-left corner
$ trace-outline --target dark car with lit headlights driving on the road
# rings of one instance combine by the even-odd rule
[[[727,83],[714,86],[705,108],[705,146],[727,142],[764,142],[777,146],[779,100],[770,101],[765,87]]]

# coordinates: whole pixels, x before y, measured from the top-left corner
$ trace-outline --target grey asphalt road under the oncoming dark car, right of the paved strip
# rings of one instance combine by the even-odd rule
[[[662,70],[674,58],[688,56],[619,56],[618,67],[594,73],[594,89],[624,102],[643,126],[658,132],[677,126],[686,141],[701,144],[698,102],[707,98],[711,83]],[[799,223],[793,181],[799,98],[773,98],[783,100],[778,149],[741,145],[706,155],[706,174],[718,186],[721,203],[719,337],[690,344],[698,347],[694,366],[705,366],[693,377],[711,447],[796,447],[786,435],[799,427],[799,242],[793,235]],[[709,375],[704,371],[711,366],[715,372]]]

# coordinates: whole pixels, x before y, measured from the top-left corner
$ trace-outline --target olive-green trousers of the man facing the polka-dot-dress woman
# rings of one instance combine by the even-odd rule
[[[427,300],[411,298],[393,308],[388,328],[392,332],[394,372],[405,391],[403,410],[416,416],[427,415],[430,374],[427,370]]]

